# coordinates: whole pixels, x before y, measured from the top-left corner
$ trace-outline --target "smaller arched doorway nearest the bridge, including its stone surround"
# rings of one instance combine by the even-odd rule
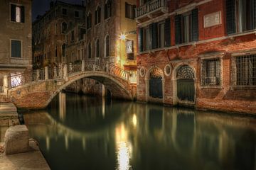
[[[149,98],[164,101],[164,72],[159,67],[151,67],[146,72],[146,101]]]

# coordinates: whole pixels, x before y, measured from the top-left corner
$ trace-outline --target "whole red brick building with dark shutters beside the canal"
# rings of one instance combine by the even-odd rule
[[[256,113],[254,0],[137,0],[137,100]]]

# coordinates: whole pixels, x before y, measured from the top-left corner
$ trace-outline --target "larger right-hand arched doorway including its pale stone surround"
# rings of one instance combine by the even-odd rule
[[[189,64],[179,64],[173,74],[174,104],[194,105],[196,103],[196,71]]]

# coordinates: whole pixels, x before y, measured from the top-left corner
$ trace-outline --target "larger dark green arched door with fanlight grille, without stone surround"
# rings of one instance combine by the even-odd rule
[[[177,79],[177,97],[180,103],[195,102],[195,75],[193,69],[188,65],[178,68]]]

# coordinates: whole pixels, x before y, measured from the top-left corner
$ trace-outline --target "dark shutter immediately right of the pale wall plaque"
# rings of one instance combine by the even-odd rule
[[[235,0],[226,0],[227,33],[235,33]]]

